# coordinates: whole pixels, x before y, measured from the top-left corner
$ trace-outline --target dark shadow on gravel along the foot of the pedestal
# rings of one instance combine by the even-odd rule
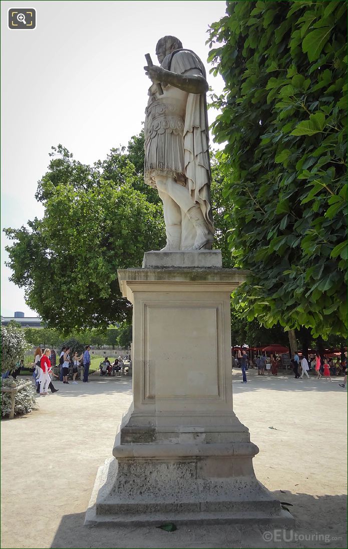
[[[346,495],[314,497],[273,492],[289,507],[296,523],[293,529],[272,525],[178,525],[175,532],[155,526],[83,526],[85,513],[65,515],[54,536],[53,549],[65,548],[321,548],[347,547]]]

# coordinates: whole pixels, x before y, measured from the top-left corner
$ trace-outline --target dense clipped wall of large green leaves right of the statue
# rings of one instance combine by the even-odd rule
[[[346,2],[227,2],[209,60],[248,320],[346,334]],[[246,312],[247,311],[247,312]]]

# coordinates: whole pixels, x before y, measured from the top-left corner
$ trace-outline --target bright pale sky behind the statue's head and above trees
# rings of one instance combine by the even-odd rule
[[[8,280],[2,229],[42,217],[35,192],[50,148],[61,143],[93,164],[127,145],[145,117],[144,54],[156,64],[156,42],[173,35],[208,68],[206,31],[223,17],[226,2],[21,1],[20,8],[36,9],[36,29],[10,30],[14,5],[1,2],[1,315],[36,316],[24,290]],[[207,80],[221,93],[221,77]]]

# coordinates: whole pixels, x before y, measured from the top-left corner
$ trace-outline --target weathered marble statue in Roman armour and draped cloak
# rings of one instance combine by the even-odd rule
[[[156,56],[161,66],[144,67],[153,82],[145,110],[144,177],[163,203],[167,243],[161,251],[209,250],[214,225],[205,69],[175,36],[160,38]]]

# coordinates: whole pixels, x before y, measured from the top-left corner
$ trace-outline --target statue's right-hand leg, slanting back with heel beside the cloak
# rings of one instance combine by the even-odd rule
[[[207,226],[199,204],[192,200],[188,188],[170,178],[170,181],[166,184],[166,192],[185,212],[196,230],[197,236],[192,249],[211,249],[214,235]]]

